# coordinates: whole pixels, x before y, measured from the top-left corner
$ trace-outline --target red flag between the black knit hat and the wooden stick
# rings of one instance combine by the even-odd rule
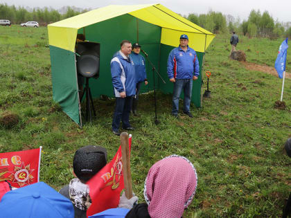
[[[128,141],[131,147],[131,136]],[[119,146],[112,161],[87,182],[92,200],[92,204],[87,210],[87,217],[109,208],[118,207],[119,197],[124,188],[122,166],[121,146]]]

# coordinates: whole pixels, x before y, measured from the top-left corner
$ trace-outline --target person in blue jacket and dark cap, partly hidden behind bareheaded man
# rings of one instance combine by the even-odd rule
[[[145,85],[148,84],[148,79],[146,78],[145,73],[145,58],[140,55],[141,46],[136,42],[132,45],[133,51],[130,54],[130,59],[134,62],[134,69],[136,75],[136,95],[132,99],[132,113],[134,116],[137,115],[136,109],[139,102],[139,91],[141,90],[141,83],[145,82]]]

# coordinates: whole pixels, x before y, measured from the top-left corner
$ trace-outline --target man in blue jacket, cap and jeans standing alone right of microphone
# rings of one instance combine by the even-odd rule
[[[193,118],[190,112],[193,80],[199,76],[199,62],[196,52],[188,46],[188,36],[181,35],[179,47],[174,48],[168,57],[168,78],[174,83],[172,115],[177,118],[179,98],[184,91],[183,113]]]

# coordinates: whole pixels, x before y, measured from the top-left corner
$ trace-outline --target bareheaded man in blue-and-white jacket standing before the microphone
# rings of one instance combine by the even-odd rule
[[[119,136],[119,123],[125,130],[134,130],[130,125],[130,109],[132,96],[136,91],[136,77],[134,74],[134,63],[130,60],[132,44],[130,41],[121,42],[121,50],[111,60],[111,76],[116,98],[116,107],[112,121],[112,132]]]

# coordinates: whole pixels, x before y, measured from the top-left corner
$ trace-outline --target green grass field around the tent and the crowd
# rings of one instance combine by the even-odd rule
[[[143,182],[150,166],[170,154],[189,158],[198,185],[184,217],[280,217],[290,193],[291,160],[283,152],[291,137],[291,80],[285,80],[287,108],[274,108],[282,80],[248,71],[229,60],[230,35],[218,35],[206,52],[211,98],[194,118],[170,116],[171,96],[157,93],[155,125],[152,94],[141,95],[131,118],[132,179],[143,202]],[[283,39],[248,39],[238,49],[247,62],[273,66]],[[247,51],[248,50],[248,51]],[[291,71],[291,50],[287,71]],[[114,156],[120,140],[111,132],[114,100],[95,100],[97,118],[80,129],[52,100],[47,29],[0,26],[0,116],[17,113],[19,123],[0,127],[0,152],[43,147],[41,180],[59,190],[73,178],[73,154],[84,145],[102,145]]]

